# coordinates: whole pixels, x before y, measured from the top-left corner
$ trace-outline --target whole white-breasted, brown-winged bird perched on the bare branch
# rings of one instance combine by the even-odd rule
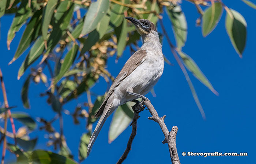
[[[153,89],[163,73],[162,45],[155,24],[147,19],[124,18],[133,23],[136,31],[142,37],[143,44],[127,60],[95,114],[95,117],[101,117],[89,140],[87,156],[89,156],[103,124],[114,110],[138,97],[147,99],[144,95]]]

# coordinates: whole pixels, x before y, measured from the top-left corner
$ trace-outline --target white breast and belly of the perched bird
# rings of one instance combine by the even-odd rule
[[[146,95],[153,89],[163,73],[164,59],[162,48],[159,47],[159,45],[150,45],[150,47],[148,47],[143,44],[141,48],[144,47],[147,47],[145,48],[147,55],[143,59],[142,64],[114,90],[114,99],[120,101],[119,105],[136,99],[136,97],[126,93],[128,87],[131,87],[134,93]]]

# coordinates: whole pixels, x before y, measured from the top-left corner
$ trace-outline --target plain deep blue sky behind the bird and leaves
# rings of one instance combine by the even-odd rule
[[[225,11],[215,30],[206,38],[203,38],[201,28],[195,27],[195,20],[199,16],[195,6],[187,1],[182,3],[182,9],[188,22],[188,39],[182,50],[195,60],[219,93],[219,96],[214,95],[189,73],[206,113],[206,121],[203,120],[193,100],[188,83],[180,67],[170,53],[166,39],[163,40],[163,54],[167,56],[170,62],[174,63],[174,66],[165,64],[163,75],[154,87],[157,97],[153,97],[151,94],[147,95],[159,116],[166,115],[165,123],[169,130],[174,125],[178,126],[176,143],[181,163],[221,164],[255,162],[256,10],[248,7],[242,1],[226,0],[224,3],[228,7],[240,12],[248,24],[247,43],[242,59],[239,58],[226,34]],[[22,27],[16,33],[11,43],[11,50],[8,51],[6,38],[13,17],[13,15],[3,16],[0,21],[0,67],[4,75],[9,104],[10,106],[18,106],[18,108],[12,109],[13,111],[27,112],[34,118],[44,117],[50,119],[55,113],[46,104],[46,98],[39,97],[39,93],[44,92],[46,89],[42,83],[38,85],[31,83],[29,90],[31,109],[26,110],[22,106],[20,90],[29,72],[27,71],[20,80],[17,80],[17,73],[28,51],[10,66],[7,65],[16,51],[22,31],[24,30],[24,27]],[[174,42],[171,24],[167,15],[164,15],[163,21],[169,36]],[[161,32],[159,27],[158,25],[158,30]],[[108,69],[112,75],[116,77],[129,58],[129,55],[130,53],[127,48],[117,64],[114,62],[115,57],[108,60]],[[47,71],[45,73],[48,74]],[[92,88],[92,91],[102,95],[105,92],[106,86],[106,83],[101,78]],[[64,108],[74,111],[75,106],[79,102],[86,101],[86,99],[86,95],[83,94],[77,100],[65,105]],[[2,94],[0,94],[0,101],[3,102]],[[124,161],[124,164],[170,163],[169,150],[166,144],[162,144],[164,136],[159,125],[152,120],[148,120],[150,113],[147,110],[140,113],[140,116],[138,132],[133,140],[132,151]],[[131,127],[128,127],[115,141],[108,144],[108,130],[111,117],[108,118],[103,126],[90,156],[83,163],[116,163],[124,152],[131,133]],[[8,124],[10,125],[10,122]],[[15,125],[20,126],[18,122],[15,122]],[[56,121],[53,125],[58,130],[59,122]],[[64,134],[76,161],[78,161],[79,140],[82,133],[85,132],[85,125],[86,122],[84,120],[80,120],[80,125],[74,125],[72,117],[64,114]],[[1,126],[3,126],[3,122],[1,122]],[[8,126],[8,130],[11,131],[10,126]],[[39,137],[36,148],[52,151],[52,147],[45,146],[47,139],[44,138],[44,134],[45,132],[37,129],[30,136],[31,138]],[[247,152],[248,156],[197,157],[182,156],[182,152]],[[14,157],[13,154],[7,152],[7,160],[10,161]]]

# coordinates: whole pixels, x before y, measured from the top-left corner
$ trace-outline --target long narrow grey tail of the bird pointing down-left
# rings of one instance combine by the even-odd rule
[[[93,134],[91,135],[91,138],[90,138],[90,141],[89,141],[89,144],[88,144],[88,147],[87,147],[87,156],[89,156],[89,154],[91,152],[91,148],[93,147],[93,144],[94,144],[96,138],[98,137],[99,132],[101,131],[101,128],[102,128],[103,124],[105,123],[108,116],[111,114],[110,113],[110,108],[111,107],[112,107],[112,104],[106,105],[106,107],[105,107],[105,109],[104,109],[104,111],[101,115],[101,118],[99,118],[99,121],[96,125],[96,128],[95,128]]]

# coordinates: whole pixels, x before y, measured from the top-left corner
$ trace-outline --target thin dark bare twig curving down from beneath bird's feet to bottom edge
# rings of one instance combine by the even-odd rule
[[[134,112],[133,120],[132,120],[132,133],[128,140],[127,147],[123,153],[123,155],[120,157],[120,159],[117,161],[117,164],[121,164],[127,157],[129,151],[132,149],[132,141],[137,133],[137,120],[139,119],[139,113]]]

